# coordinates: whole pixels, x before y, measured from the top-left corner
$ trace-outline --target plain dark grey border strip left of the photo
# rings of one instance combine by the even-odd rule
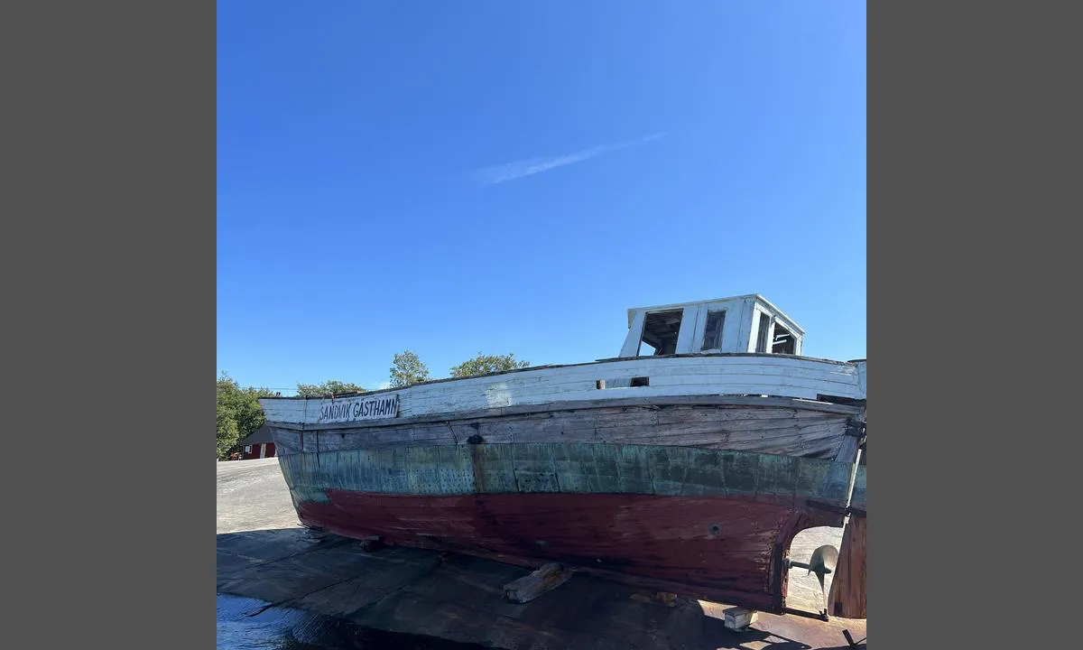
[[[216,4],[3,13],[3,645],[212,648]]]

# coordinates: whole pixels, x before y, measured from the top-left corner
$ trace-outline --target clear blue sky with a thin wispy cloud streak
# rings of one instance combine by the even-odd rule
[[[615,355],[760,292],[865,356],[863,2],[219,3],[218,370]]]

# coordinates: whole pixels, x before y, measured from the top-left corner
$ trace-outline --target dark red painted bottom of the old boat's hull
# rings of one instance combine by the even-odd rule
[[[734,496],[482,494],[412,496],[328,490],[305,525],[345,537],[588,573],[761,611],[782,610],[783,559],[800,530],[831,516]]]

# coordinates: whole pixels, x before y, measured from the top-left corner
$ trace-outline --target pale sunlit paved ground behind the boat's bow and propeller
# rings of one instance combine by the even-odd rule
[[[235,533],[298,528],[293,504],[276,458],[231,460],[218,463],[218,532]],[[841,529],[817,528],[801,531],[794,538],[790,557],[807,562],[818,546],[831,544],[838,548]],[[794,569],[790,572],[791,607],[818,611],[823,601],[815,575]],[[831,589],[828,575],[827,589]]]

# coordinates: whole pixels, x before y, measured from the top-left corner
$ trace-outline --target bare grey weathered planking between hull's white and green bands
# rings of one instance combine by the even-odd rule
[[[608,443],[835,458],[862,408],[770,398],[561,402],[340,425],[269,422],[279,454],[403,445]]]

